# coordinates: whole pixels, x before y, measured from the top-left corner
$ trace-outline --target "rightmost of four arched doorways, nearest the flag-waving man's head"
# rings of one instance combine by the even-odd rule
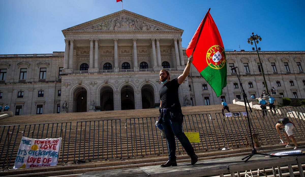
[[[142,109],[149,109],[155,107],[153,88],[146,84],[141,89]]]

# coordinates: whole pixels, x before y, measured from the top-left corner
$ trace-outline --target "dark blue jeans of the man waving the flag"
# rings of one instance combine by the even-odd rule
[[[168,114],[167,114],[168,115]],[[162,126],[165,131],[167,139],[167,148],[169,151],[168,160],[176,160],[176,139],[175,136],[180,141],[182,147],[188,153],[188,155],[195,155],[194,148],[190,141],[183,132],[182,124],[183,118],[170,120],[170,116],[165,116],[162,119]]]

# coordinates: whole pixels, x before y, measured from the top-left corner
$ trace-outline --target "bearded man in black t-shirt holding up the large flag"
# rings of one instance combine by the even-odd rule
[[[162,164],[161,167],[177,166],[175,136],[180,141],[187,154],[191,157],[191,164],[194,165],[198,161],[198,157],[195,154],[192,144],[183,132],[183,114],[178,95],[178,88],[188,76],[192,61],[193,56],[190,56],[183,73],[173,80],[170,80],[170,74],[167,70],[160,70],[159,73],[160,81],[163,84],[159,90],[159,123],[165,131],[169,152],[168,161],[165,164]]]

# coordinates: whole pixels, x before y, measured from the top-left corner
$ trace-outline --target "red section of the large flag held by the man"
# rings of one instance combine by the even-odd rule
[[[208,66],[206,55],[213,45],[219,45],[224,48],[221,36],[209,9],[186,49],[188,57],[193,53],[192,63],[199,72]]]

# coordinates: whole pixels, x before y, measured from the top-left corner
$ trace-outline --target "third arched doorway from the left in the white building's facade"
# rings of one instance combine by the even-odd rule
[[[135,109],[135,95],[132,87],[125,86],[121,90],[121,110]]]

